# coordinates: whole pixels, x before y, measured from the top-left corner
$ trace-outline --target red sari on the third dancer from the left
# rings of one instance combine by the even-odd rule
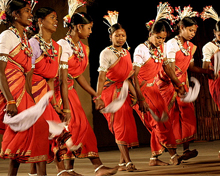
[[[86,54],[86,46],[81,42],[83,47],[83,52],[85,57],[79,60],[75,55],[71,56],[68,60],[68,73],[69,77],[77,77],[81,75],[88,64],[88,56]],[[68,100],[71,110],[71,120],[68,125],[68,129],[72,134],[72,140],[74,145],[82,143],[82,151],[80,155],[77,155],[78,158],[86,157],[98,157],[98,148],[96,136],[93,132],[92,127],[89,124],[89,121],[86,117],[86,114],[82,108],[79,97],[76,90],[73,88],[74,80],[68,78]],[[58,81],[56,82],[56,99],[57,102],[62,103],[60,88]],[[61,106],[62,108],[62,106]],[[72,157],[71,152],[67,153],[67,158]]]

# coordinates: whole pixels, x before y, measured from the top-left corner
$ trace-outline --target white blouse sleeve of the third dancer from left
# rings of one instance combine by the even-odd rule
[[[68,62],[69,57],[73,55],[73,50],[70,44],[68,43],[68,41],[64,39],[60,39],[57,43],[62,47],[62,54],[60,61]]]

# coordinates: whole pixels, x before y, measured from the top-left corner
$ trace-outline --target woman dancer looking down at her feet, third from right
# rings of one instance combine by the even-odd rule
[[[138,105],[135,105],[134,109],[151,133],[152,155],[149,165],[168,165],[168,163],[158,159],[158,156],[165,149],[168,150],[171,156],[171,163],[178,165],[181,162],[181,157],[176,153],[176,142],[172,126],[170,121],[166,119],[168,118],[166,117],[167,106],[155,84],[157,74],[163,68],[174,86],[178,88],[179,95],[182,96],[185,90],[165,57],[166,46],[164,41],[170,31],[170,25],[164,19],[168,16],[172,20],[172,9],[168,3],[160,3],[158,8],[155,21],[147,23],[150,30],[148,40],[144,44],[140,44],[134,52],[134,83],[138,98]],[[152,110],[159,119],[156,121],[148,110]]]

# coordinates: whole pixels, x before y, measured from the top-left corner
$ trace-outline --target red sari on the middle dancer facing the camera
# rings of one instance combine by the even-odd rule
[[[105,106],[119,96],[123,81],[133,74],[131,56],[128,51],[126,52],[127,55],[119,58],[106,74],[111,83],[106,84],[102,91],[101,97]],[[131,98],[128,96],[124,105],[117,112],[103,114],[108,122],[109,130],[115,135],[116,143],[128,147],[139,145],[131,104]]]

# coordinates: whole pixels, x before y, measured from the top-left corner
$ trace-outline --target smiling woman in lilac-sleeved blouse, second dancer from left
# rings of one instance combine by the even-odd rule
[[[30,45],[33,49],[33,69],[30,72],[30,74],[33,73],[32,94],[35,102],[39,102],[42,96],[44,96],[45,93],[49,90],[54,90],[54,79],[58,74],[59,61],[61,55],[61,47],[51,38],[52,34],[56,32],[57,23],[57,14],[54,9],[51,9],[49,7],[43,7],[38,9],[34,15],[33,26],[36,30],[38,30],[39,28],[39,33],[30,39]],[[61,123],[58,113],[61,116],[63,115],[60,108],[57,106],[54,95],[51,100],[51,104],[49,104],[45,109],[45,119]],[[68,139],[68,137],[70,137],[68,133],[65,133],[61,134],[59,136],[59,139],[65,141]],[[58,151],[59,140],[56,140],[55,138],[51,140],[50,143],[51,152],[48,163],[52,162],[55,159],[59,171],[59,154],[62,154],[62,150]],[[31,174],[34,173],[36,172],[34,167],[32,167]],[[69,174],[63,173],[62,176],[64,175]]]

